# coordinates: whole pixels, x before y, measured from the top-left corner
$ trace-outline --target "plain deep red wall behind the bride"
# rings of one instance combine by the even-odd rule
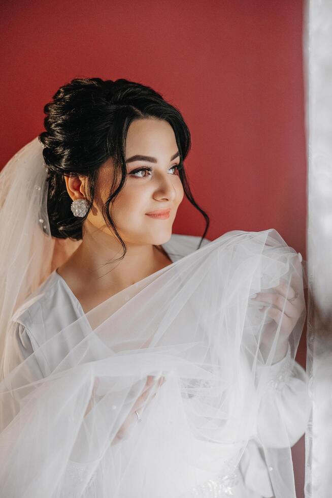
[[[306,258],[302,0],[2,2],[0,164],[43,129],[75,77],[148,84],[192,134],[186,168],[207,237],[275,228]],[[186,200],[174,232],[201,235]],[[305,340],[297,356],[305,364]],[[303,496],[304,445],[294,448]]]

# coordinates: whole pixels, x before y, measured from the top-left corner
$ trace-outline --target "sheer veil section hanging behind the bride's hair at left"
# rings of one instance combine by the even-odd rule
[[[0,172],[1,366],[10,317],[81,243],[51,237],[46,178],[38,137],[22,147]]]

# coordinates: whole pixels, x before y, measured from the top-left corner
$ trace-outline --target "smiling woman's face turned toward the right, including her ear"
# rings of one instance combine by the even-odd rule
[[[171,125],[154,118],[133,121],[128,129],[125,158],[125,184],[111,203],[115,226],[126,243],[159,245],[167,242],[183,199],[177,170],[180,157]],[[97,192],[103,203],[108,198],[112,179],[113,160],[109,159],[101,167],[97,181]],[[159,209],[170,209],[169,217],[162,219],[147,214]],[[93,207],[88,220],[96,228],[110,232],[101,209]]]

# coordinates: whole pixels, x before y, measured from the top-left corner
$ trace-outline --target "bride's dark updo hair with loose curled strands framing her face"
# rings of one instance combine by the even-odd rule
[[[43,155],[48,170],[47,211],[51,235],[58,238],[82,239],[82,224],[95,197],[99,168],[109,159],[114,163],[114,181],[102,212],[107,226],[121,239],[109,210],[121,191],[126,177],[125,141],[132,121],[154,117],[164,119],[174,130],[182,168],[179,176],[189,202],[206,221],[199,248],[208,231],[210,219],[190,192],[183,160],[190,150],[190,132],[180,113],[149,86],[126,79],[102,80],[77,78],[61,86],[53,100],[44,107],[45,130],[39,135],[44,145]],[[86,176],[86,199],[89,209],[84,217],[74,216],[72,199],[67,192],[64,176]]]

